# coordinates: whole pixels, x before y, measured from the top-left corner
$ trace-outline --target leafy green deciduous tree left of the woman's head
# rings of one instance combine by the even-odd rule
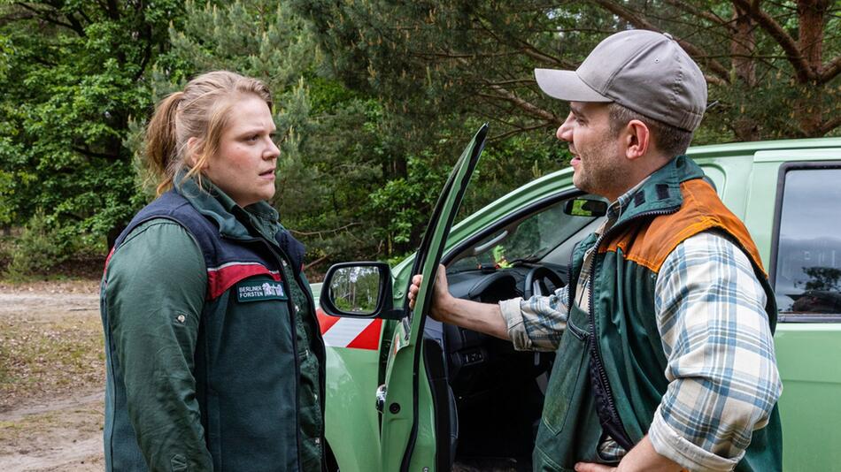
[[[42,209],[102,245],[127,223],[138,207],[122,142],[180,12],[174,0],[0,4],[0,225],[37,226]]]

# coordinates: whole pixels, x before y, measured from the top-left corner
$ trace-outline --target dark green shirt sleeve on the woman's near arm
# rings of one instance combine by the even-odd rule
[[[106,280],[128,415],[150,470],[212,470],[193,376],[207,286],[196,241],[181,225],[151,220],[112,255]]]

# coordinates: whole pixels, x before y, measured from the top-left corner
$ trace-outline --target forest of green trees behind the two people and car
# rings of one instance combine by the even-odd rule
[[[215,69],[274,93],[273,203],[310,271],[397,261],[483,122],[462,214],[567,164],[567,108],[532,71],[628,28],[672,34],[705,72],[694,144],[841,135],[835,0],[2,0],[0,271],[101,270],[154,198],[154,103]]]

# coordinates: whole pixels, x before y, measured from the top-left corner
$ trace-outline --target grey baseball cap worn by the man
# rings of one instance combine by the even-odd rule
[[[633,29],[599,42],[575,71],[535,69],[546,95],[567,102],[615,102],[694,131],[706,110],[706,80],[669,34]]]

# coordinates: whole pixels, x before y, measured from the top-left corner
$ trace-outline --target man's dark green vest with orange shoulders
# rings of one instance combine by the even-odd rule
[[[598,462],[603,434],[629,450],[648,432],[668,385],[654,286],[660,266],[683,240],[716,230],[742,248],[766,292],[773,332],[775,297],[756,247],[703,175],[689,158],[678,156],[645,181],[601,238],[592,235],[575,248],[570,301],[576,299],[585,253],[598,246],[590,268],[590,313],[570,303],[537,433],[535,470],[573,470],[577,461]],[[774,407],[768,425],[753,431],[737,470],[780,470],[781,448]]]

